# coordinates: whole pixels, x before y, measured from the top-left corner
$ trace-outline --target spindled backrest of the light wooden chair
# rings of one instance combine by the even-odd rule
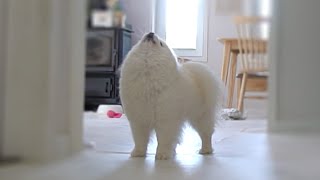
[[[267,71],[267,37],[263,37],[262,29],[268,23],[268,19],[256,16],[236,16],[233,22],[240,49],[240,71],[248,73]]]

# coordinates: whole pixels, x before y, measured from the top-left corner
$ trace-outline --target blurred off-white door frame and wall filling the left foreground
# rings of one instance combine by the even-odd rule
[[[49,161],[80,151],[85,2],[1,2],[8,5],[0,21],[3,154]]]

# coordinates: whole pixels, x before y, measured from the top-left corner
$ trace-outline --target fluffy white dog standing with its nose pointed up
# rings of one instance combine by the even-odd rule
[[[200,153],[211,154],[220,87],[209,67],[180,65],[157,35],[144,35],[127,55],[120,76],[120,97],[135,143],[131,156],[146,155],[155,130],[156,159],[171,158],[186,121],[201,137]]]

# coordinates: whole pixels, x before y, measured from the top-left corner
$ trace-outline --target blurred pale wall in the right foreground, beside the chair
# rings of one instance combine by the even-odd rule
[[[270,130],[320,130],[320,1],[274,2]]]

